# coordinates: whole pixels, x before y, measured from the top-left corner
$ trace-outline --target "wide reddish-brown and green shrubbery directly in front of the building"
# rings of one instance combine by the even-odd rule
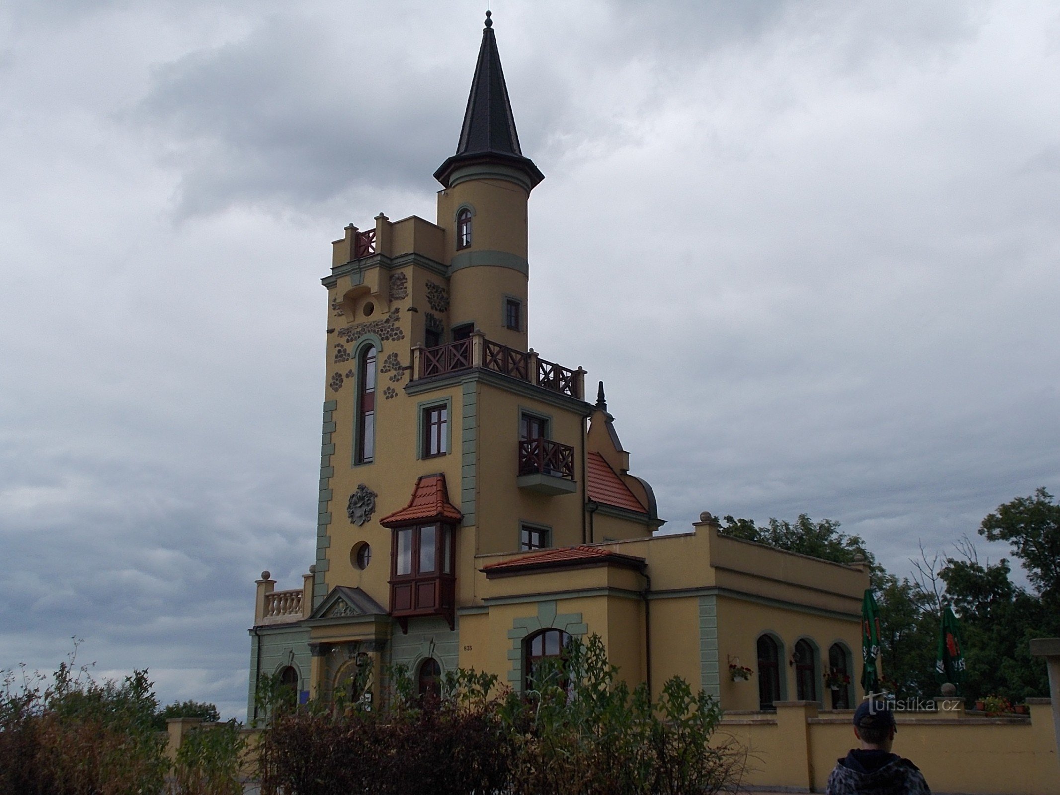
[[[552,665],[549,665],[549,664]],[[493,675],[447,674],[419,697],[388,671],[386,707],[310,704],[273,710],[261,746],[262,791],[287,795],[705,795],[735,792],[745,761],[712,742],[721,711],[670,679],[655,703],[607,662],[603,642],[573,642],[519,696]]]

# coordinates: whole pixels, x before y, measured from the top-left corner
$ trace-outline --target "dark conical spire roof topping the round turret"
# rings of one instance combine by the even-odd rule
[[[545,178],[519,148],[519,136],[515,130],[515,118],[508,99],[491,16],[490,12],[485,13],[482,45],[478,50],[478,63],[475,65],[457,152],[435,172],[435,178],[446,188],[457,167],[472,163],[495,162],[514,166],[526,174],[531,188]]]

